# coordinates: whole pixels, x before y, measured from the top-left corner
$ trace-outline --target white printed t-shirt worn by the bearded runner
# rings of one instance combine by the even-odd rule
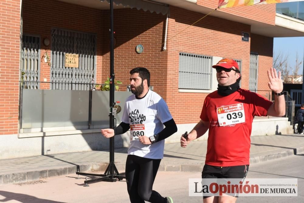
[[[135,95],[128,97],[121,119],[122,122],[130,124],[128,155],[162,159],[165,140],[145,145],[140,143],[138,137],[156,135],[164,129],[163,123],[171,119],[166,102],[154,91],[149,90],[141,99],[136,99]]]

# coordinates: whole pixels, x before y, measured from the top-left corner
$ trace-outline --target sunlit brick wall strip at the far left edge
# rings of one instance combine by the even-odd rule
[[[0,1],[0,135],[18,131],[20,1]]]

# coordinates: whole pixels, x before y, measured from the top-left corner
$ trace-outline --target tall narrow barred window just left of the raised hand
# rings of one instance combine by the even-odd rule
[[[250,64],[249,64],[249,90],[257,92],[257,71],[258,71],[258,54],[250,53]]]

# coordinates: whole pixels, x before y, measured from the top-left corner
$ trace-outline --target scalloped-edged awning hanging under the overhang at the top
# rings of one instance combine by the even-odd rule
[[[102,2],[110,2],[110,0],[100,0]],[[131,9],[136,8],[137,10],[143,9],[144,11],[150,11],[151,13],[156,12],[163,15],[169,14],[169,6],[160,4],[157,2],[145,1],[145,0],[113,0],[117,5],[129,6]]]

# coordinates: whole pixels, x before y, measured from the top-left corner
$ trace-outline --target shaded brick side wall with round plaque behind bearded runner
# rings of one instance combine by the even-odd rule
[[[103,30],[109,30],[109,12],[103,15]],[[117,80],[123,82],[123,90],[130,84],[130,70],[146,67],[151,73],[154,91],[166,98],[167,52],[162,51],[166,15],[136,9],[114,10],[114,31],[117,44],[114,50],[114,71]],[[109,42],[109,33],[104,32],[104,41]],[[136,53],[138,44],[143,53]],[[109,76],[109,43],[103,44],[102,81]]]

